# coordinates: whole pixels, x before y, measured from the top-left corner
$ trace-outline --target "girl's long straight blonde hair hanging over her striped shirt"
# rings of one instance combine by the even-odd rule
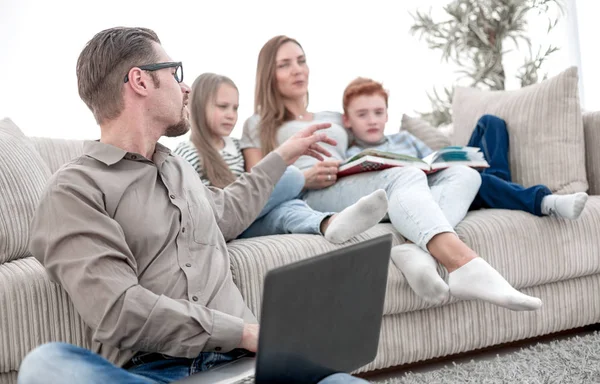
[[[206,115],[209,103],[215,102],[221,84],[231,85],[237,90],[230,78],[215,73],[203,73],[192,84],[190,96],[190,140],[198,150],[204,175],[217,188],[224,188],[235,181],[235,175],[211,144],[212,131]]]

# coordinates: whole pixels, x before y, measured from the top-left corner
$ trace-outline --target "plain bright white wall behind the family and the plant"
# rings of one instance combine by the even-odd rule
[[[252,113],[258,51],[276,34],[294,37],[304,46],[311,68],[310,110],[341,110],[345,85],[356,76],[373,77],[390,90],[387,129],[393,132],[402,113],[429,108],[426,92],[433,85],[449,84],[455,77],[452,68],[440,63],[439,53],[408,32],[409,11],[445,3],[0,0],[0,118],[11,117],[31,136],[97,138],[99,129],[77,94],[75,63],[94,33],[127,25],[154,29],[171,57],[183,61],[186,83],[206,71],[237,83],[241,105],[235,136],[241,135],[243,120]],[[584,14],[580,31],[594,22],[586,7],[598,7],[593,0],[582,3],[587,5],[579,9]],[[540,41],[562,44],[568,31],[565,24],[552,36],[543,28],[535,34]],[[592,38],[582,39],[584,57]],[[516,65],[511,60],[507,63]],[[563,49],[548,70],[555,74],[576,62],[573,53]],[[588,71],[595,79],[591,68]]]

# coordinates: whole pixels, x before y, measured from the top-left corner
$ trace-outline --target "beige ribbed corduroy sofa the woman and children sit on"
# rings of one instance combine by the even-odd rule
[[[455,300],[432,306],[391,265],[379,351],[359,372],[600,322],[600,113],[585,114],[583,123],[590,199],[579,220],[482,210],[469,213],[457,228],[510,283],[540,297],[542,309],[512,312]],[[80,141],[26,137],[10,120],[0,121],[0,383],[16,383],[20,362],[37,345],[59,340],[89,345],[65,291],[50,282],[26,246],[45,180],[81,152]],[[393,233],[396,244],[404,241],[389,224],[355,241],[383,233]],[[284,235],[236,240],[229,253],[235,282],[259,314],[269,269],[336,247],[319,236]]]

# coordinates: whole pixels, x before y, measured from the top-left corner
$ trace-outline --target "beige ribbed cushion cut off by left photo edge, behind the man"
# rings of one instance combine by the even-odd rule
[[[10,119],[0,120],[0,264],[29,254],[29,226],[50,170]]]

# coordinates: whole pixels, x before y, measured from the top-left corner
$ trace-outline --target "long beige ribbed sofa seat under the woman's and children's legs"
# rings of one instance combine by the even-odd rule
[[[470,212],[456,231],[518,289],[600,273],[595,240],[600,233],[600,196],[590,197],[578,220],[489,209]],[[395,236],[394,245],[404,242],[391,224],[379,224],[348,244],[384,233]],[[257,317],[263,279],[270,269],[339,247],[316,235],[265,236],[228,244],[233,279]],[[447,279],[445,268],[438,268],[438,272]],[[398,268],[390,264],[384,314],[430,307],[410,289]]]

